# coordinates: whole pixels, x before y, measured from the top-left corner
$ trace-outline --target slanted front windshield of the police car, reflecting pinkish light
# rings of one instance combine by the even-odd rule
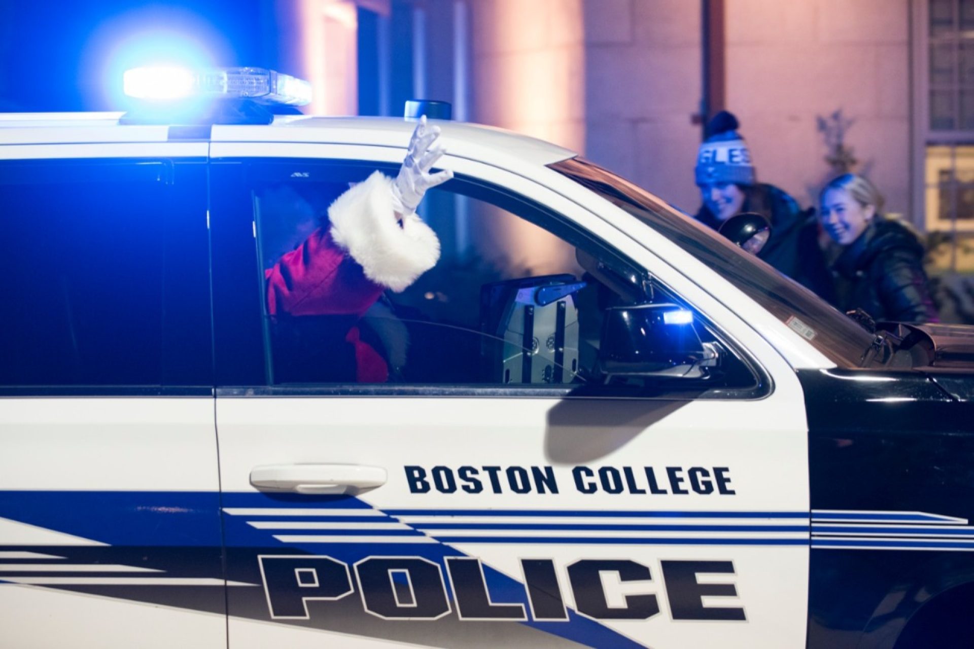
[[[593,162],[572,158],[548,166],[618,205],[719,272],[837,365],[860,367],[874,337],[798,282]]]

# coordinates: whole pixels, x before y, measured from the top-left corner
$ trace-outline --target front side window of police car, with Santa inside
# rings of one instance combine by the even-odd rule
[[[649,288],[645,273],[559,215],[466,177],[431,190],[421,205],[441,246],[431,270],[404,290],[377,291],[365,304],[353,304],[368,288],[349,274],[342,279],[348,292],[319,300],[321,281],[330,278],[308,279],[319,271],[311,267],[330,232],[328,207],[373,170],[281,162],[255,165],[249,174],[269,384],[560,386],[607,393],[760,382],[729,346],[720,372],[609,372],[601,351],[606,309],[678,305],[679,298]],[[392,174],[394,167],[385,170]],[[347,272],[335,268],[327,271]],[[687,331],[700,343],[726,345],[698,317]]]

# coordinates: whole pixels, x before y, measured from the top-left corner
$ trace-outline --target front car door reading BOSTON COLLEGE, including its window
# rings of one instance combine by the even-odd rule
[[[780,356],[577,204],[449,158],[421,209],[435,268],[361,318],[282,317],[282,251],[402,155],[310,150],[214,147],[224,535],[255,585],[228,591],[232,649],[801,645],[805,412]],[[631,291],[716,345],[721,378],[609,376]],[[353,329],[385,382],[336,369]]]

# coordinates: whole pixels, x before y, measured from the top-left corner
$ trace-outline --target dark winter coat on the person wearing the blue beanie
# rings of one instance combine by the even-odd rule
[[[835,303],[835,287],[818,246],[818,225],[814,216],[803,211],[794,198],[773,185],[759,184],[743,189],[745,198],[741,212],[757,212],[771,224],[768,243],[758,257],[823,300]],[[720,229],[721,221],[706,204],[694,218],[714,230]]]

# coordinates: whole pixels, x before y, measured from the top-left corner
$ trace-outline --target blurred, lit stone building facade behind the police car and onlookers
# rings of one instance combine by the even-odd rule
[[[702,123],[727,108],[761,182],[806,207],[869,176],[955,281],[974,270],[972,27],[968,0],[5,0],[0,111],[125,110],[137,65],[271,67],[312,82],[306,113],[450,101],[693,213]]]

